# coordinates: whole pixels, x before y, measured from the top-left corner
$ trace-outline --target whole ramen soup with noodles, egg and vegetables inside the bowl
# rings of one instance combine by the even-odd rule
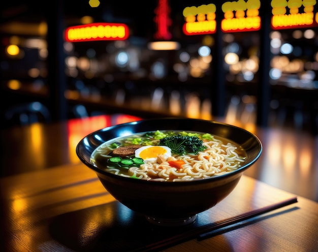
[[[180,139],[186,141],[180,144]],[[184,147],[188,142],[196,147],[190,150]],[[92,152],[90,160],[99,169],[119,176],[183,181],[237,170],[244,164],[246,155],[241,146],[224,137],[158,130],[109,140]]]

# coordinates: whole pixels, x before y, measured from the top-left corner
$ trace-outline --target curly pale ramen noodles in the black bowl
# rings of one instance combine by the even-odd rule
[[[115,168],[106,168],[105,170],[121,176],[135,176],[156,181],[187,181],[219,176],[237,170],[246,159],[245,152],[238,149],[238,146],[220,139],[213,137],[210,141],[204,141],[203,145],[206,146],[206,149],[197,155],[175,155],[175,159],[183,160],[185,163],[179,170],[171,167],[168,161],[161,164],[156,163],[156,161],[147,161],[140,167],[126,169],[126,174]],[[96,155],[107,156],[108,153],[105,153],[107,149],[109,148],[98,149]]]

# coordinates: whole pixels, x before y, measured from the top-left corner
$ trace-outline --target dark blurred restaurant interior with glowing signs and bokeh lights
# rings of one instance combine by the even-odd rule
[[[317,134],[315,0],[1,5],[2,128],[33,120],[28,108],[46,121],[226,117]]]

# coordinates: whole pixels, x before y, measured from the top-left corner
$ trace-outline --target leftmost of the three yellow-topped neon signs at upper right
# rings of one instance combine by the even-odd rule
[[[183,10],[185,35],[213,34],[216,31],[214,4],[186,7]]]

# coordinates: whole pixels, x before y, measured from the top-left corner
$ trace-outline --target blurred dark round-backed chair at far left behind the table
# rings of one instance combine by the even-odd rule
[[[28,125],[35,122],[50,122],[51,113],[40,102],[15,105],[5,111],[6,127],[14,125]]]

